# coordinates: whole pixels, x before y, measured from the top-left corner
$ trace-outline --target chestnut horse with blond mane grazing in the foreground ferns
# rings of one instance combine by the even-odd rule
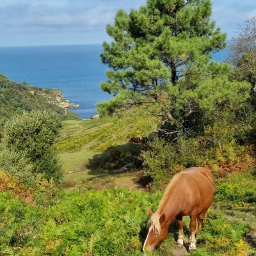
[[[203,167],[188,168],[177,173],[168,185],[157,211],[148,210],[148,234],[143,251],[152,251],[168,236],[168,228],[176,218],[179,227],[177,243],[183,244],[182,216],[190,216],[191,243],[189,251],[196,248],[196,233],[202,227],[205,213],[212,204],[214,179]]]

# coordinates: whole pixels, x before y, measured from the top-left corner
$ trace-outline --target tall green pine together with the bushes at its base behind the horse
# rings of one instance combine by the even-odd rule
[[[230,79],[228,63],[211,61],[212,51],[225,47],[225,35],[210,17],[207,0],[148,0],[129,14],[120,10],[107,26],[113,42],[104,43],[102,61],[112,69],[102,90],[115,97],[98,109],[104,115],[147,104],[161,117],[141,152],[156,189],[184,167],[205,165],[222,173],[223,166],[232,169],[244,159],[243,170],[253,166],[251,85]]]

